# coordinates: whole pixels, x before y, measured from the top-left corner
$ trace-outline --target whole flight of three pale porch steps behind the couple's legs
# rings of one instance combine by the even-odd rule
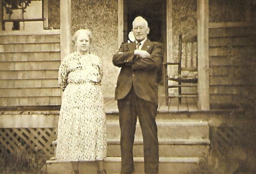
[[[105,168],[108,173],[120,173],[120,128],[118,117],[107,119],[108,149]],[[209,148],[209,126],[200,120],[157,120],[159,139],[159,173],[188,173]],[[134,142],[135,172],[144,173],[143,138],[139,122]],[[47,161],[48,173],[71,173],[70,162]],[[97,173],[96,162],[80,163],[80,173]]]

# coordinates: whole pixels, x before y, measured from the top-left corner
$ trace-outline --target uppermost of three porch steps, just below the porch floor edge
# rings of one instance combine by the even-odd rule
[[[107,121],[107,138],[119,139],[118,121]],[[206,121],[157,121],[159,139],[208,139],[209,126]],[[137,122],[135,139],[142,139],[142,132]]]

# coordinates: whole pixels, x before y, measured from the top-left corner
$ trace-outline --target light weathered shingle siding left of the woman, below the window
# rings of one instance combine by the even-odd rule
[[[0,36],[1,106],[60,105],[60,36]]]

